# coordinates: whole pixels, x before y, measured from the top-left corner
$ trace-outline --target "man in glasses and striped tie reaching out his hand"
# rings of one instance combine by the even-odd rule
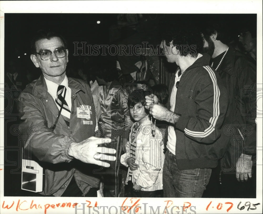
[[[115,160],[110,154],[116,151],[99,147],[109,138],[94,137],[97,121],[90,88],[66,76],[67,43],[56,33],[37,32],[31,60],[42,75],[23,90],[18,106],[21,130],[28,137],[24,147],[45,168],[40,194],[96,197],[100,179],[92,174],[92,164],[109,167],[103,160]]]

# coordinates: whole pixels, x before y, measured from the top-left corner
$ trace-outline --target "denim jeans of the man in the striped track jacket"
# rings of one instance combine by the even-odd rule
[[[164,198],[201,198],[212,169],[179,170],[176,158],[169,150],[163,167]]]

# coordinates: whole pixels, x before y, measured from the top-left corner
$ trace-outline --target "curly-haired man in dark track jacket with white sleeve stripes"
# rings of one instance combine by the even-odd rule
[[[150,114],[168,121],[163,167],[164,197],[202,197],[211,168],[225,153],[224,134],[228,95],[221,78],[209,66],[210,56],[199,54],[202,38],[180,30],[167,33],[161,43],[168,62],[178,69],[170,81],[168,109],[155,95],[146,96]]]

